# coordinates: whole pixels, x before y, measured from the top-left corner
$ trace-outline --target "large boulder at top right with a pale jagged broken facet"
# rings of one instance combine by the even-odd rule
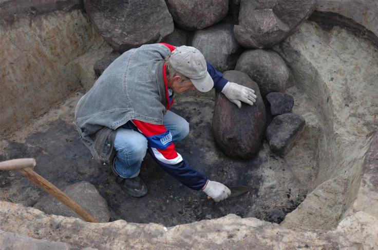
[[[314,11],[316,0],[241,0],[235,36],[247,48],[271,48]]]

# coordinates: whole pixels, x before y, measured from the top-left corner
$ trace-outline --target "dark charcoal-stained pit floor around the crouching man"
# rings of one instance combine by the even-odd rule
[[[293,93],[292,93],[293,94]],[[294,92],[295,94],[295,92]],[[165,173],[146,155],[141,177],[148,194],[133,198],[122,191],[107,165],[98,164],[80,141],[73,122],[74,108],[82,96],[75,93],[66,102],[11,137],[0,138],[0,161],[14,158],[36,159],[36,173],[58,188],[88,181],[106,199],[110,221],[173,226],[227,214],[256,217],[280,223],[309,192],[316,175],[316,152],[304,130],[285,158],[270,152],[264,141],[259,155],[250,160],[225,156],[214,142],[211,120],[214,101],[199,97],[179,97],[172,111],[190,123],[190,134],[176,143],[177,151],[210,180],[226,185],[247,185],[250,193],[219,203],[207,200],[201,191],[186,188]],[[297,105],[298,106],[298,105]],[[0,200],[32,206],[47,195],[16,171],[0,173]]]

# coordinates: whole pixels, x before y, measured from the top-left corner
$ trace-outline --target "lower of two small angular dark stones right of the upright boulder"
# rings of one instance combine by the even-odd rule
[[[272,152],[285,156],[305,123],[303,117],[294,113],[274,117],[267,128],[267,139]]]

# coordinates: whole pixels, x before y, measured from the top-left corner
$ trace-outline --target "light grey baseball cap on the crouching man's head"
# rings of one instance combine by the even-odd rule
[[[214,81],[207,72],[205,57],[196,48],[177,47],[172,51],[169,62],[174,70],[191,79],[197,90],[207,92],[214,87]]]

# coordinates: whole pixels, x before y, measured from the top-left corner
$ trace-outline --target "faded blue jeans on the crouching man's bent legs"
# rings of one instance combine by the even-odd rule
[[[189,133],[189,123],[172,111],[164,115],[163,124],[171,131],[172,140],[180,141]],[[116,158],[114,171],[122,178],[134,178],[139,175],[140,165],[147,152],[146,137],[134,130],[119,128],[114,141]]]

